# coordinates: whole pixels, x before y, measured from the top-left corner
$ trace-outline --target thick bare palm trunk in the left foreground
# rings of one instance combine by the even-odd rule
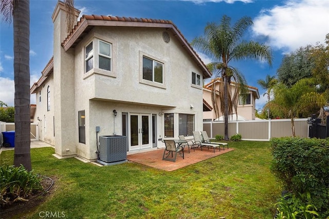
[[[15,149],[14,165],[31,170],[30,156],[30,2],[15,0],[13,9]]]

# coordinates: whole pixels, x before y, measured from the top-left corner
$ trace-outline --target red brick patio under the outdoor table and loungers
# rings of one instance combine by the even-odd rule
[[[130,154],[127,155],[127,160],[132,161],[135,163],[143,164],[146,166],[154,167],[157,169],[162,169],[166,171],[173,171],[177,170],[182,167],[186,167],[192,164],[196,164],[201,161],[205,161],[211,157],[215,157],[227,152],[230,152],[234,150],[233,148],[229,149],[221,149],[219,151],[216,149],[216,152],[214,153],[212,148],[203,148],[202,151],[200,148],[195,149],[195,151],[190,150],[190,153],[187,148],[184,149],[184,160],[181,156],[177,155],[176,162],[172,161],[163,161],[162,155],[163,150],[165,149],[157,149],[154,151],[148,151],[148,152],[142,152],[142,153],[136,153],[136,154]]]

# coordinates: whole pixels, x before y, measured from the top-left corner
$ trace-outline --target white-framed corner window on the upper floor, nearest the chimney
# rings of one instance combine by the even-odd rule
[[[95,50],[94,42],[98,48]],[[95,62],[95,57],[98,59]],[[97,39],[85,47],[85,72],[93,68],[112,71],[112,45]]]

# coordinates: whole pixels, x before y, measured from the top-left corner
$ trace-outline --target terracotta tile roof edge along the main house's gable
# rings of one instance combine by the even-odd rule
[[[65,51],[69,48],[74,48],[83,37],[89,33],[94,26],[116,26],[116,27],[159,27],[171,30],[173,35],[178,39],[180,45],[191,53],[191,58],[194,58],[196,64],[204,69],[204,78],[211,77],[212,73],[209,71],[200,56],[189,44],[184,35],[180,32],[177,26],[168,20],[151,19],[151,18],[137,18],[137,17],[119,17],[119,16],[104,16],[104,15],[82,15],[80,21],[74,26],[62,43]]]

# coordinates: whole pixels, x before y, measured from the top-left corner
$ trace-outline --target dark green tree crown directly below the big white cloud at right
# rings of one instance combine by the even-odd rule
[[[312,46],[300,47],[295,52],[286,54],[282,63],[277,70],[278,80],[280,83],[293,86],[302,78],[312,77],[314,60],[311,56]]]

